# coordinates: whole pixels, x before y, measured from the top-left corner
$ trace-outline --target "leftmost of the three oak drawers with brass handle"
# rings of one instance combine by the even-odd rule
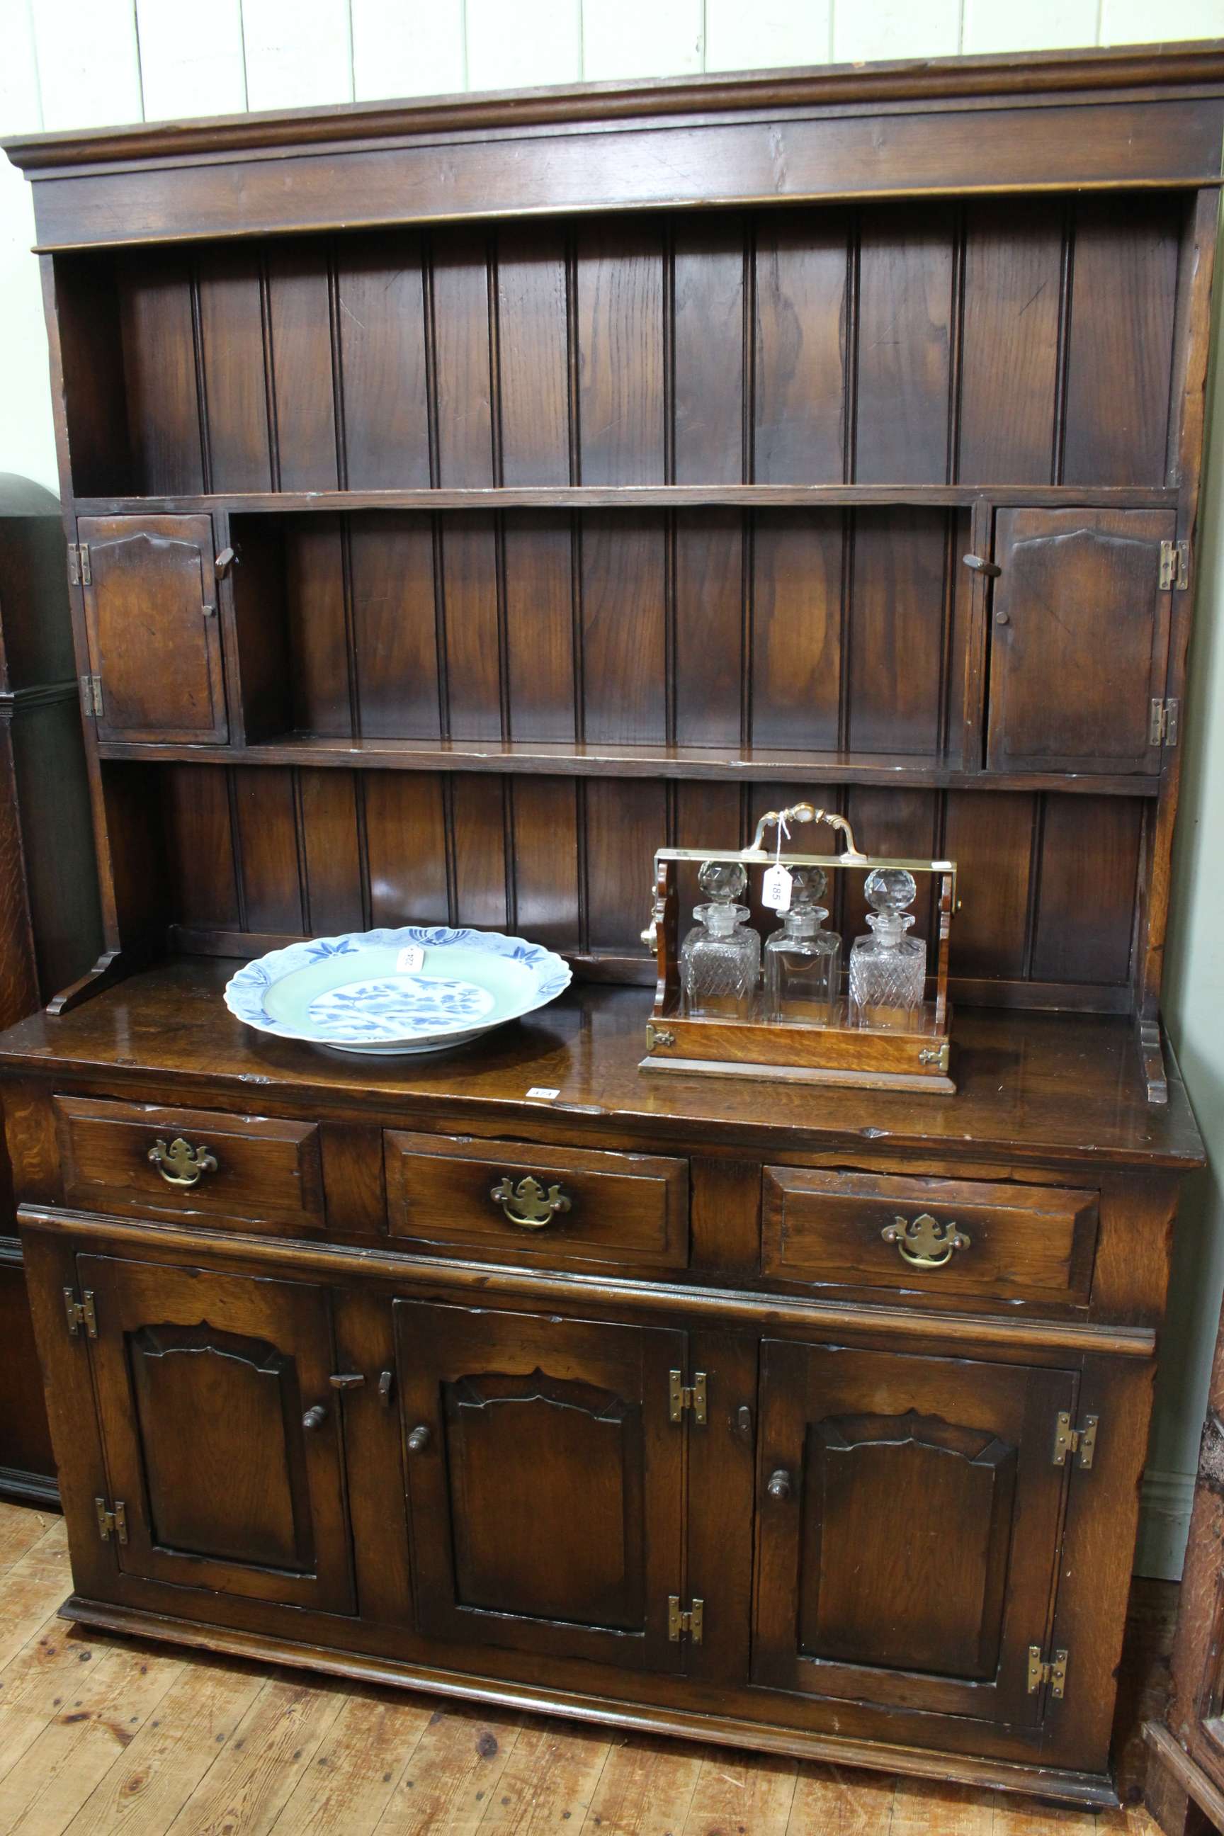
[[[55,1129],[68,1204],[284,1236],[323,1228],[316,1122],[57,1096]]]

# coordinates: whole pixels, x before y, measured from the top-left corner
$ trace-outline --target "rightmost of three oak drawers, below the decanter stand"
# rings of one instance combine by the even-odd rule
[[[1083,1305],[1096,1239],[1096,1192],[763,1170],[762,1269],[787,1282]]]

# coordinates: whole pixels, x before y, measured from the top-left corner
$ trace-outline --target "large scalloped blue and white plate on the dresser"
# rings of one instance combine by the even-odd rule
[[[338,1052],[439,1052],[541,1008],[569,964],[499,931],[404,925],[273,949],[226,988],[226,1006],[279,1039]]]

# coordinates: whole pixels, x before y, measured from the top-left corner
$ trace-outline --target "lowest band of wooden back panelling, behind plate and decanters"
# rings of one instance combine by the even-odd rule
[[[473,924],[639,979],[655,846],[738,846],[762,810],[809,789],[279,766],[163,766],[160,782],[158,846],[184,942]],[[1127,1006],[1143,799],[857,786],[828,802],[881,852],[958,859],[962,999]],[[837,878],[831,922],[851,938],[862,900],[855,876]],[[930,938],[929,900],[918,914]],[[774,920],[754,907],[754,922]]]

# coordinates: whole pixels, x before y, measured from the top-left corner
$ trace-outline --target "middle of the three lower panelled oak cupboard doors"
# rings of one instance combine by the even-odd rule
[[[679,1669],[684,1335],[418,1300],[395,1315],[420,1630]]]

